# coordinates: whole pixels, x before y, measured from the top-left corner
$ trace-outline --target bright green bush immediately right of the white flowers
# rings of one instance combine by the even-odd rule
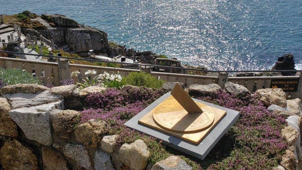
[[[128,76],[123,77],[124,85],[145,86],[149,88],[160,88],[166,81],[158,80],[146,72],[131,72]]]

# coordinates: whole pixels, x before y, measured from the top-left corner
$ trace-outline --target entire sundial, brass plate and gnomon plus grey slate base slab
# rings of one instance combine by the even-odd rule
[[[157,99],[125,125],[204,159],[238,117],[238,111],[192,99],[176,83],[172,92]]]

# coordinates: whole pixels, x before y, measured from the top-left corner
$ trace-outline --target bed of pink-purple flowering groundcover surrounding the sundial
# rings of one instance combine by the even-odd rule
[[[90,119],[110,124],[104,135],[119,134],[117,143],[131,143],[142,139],[150,151],[149,163],[154,164],[179,152],[161,145],[155,138],[128,129],[123,124],[162,96],[164,91],[149,88],[107,89],[86,98],[81,122]],[[193,169],[270,169],[277,166],[288,147],[281,136],[286,124],[283,117],[267,111],[256,97],[235,97],[219,91],[211,96],[196,97],[223,107],[240,111],[240,118],[211,150],[205,160],[192,161],[179,155]]]

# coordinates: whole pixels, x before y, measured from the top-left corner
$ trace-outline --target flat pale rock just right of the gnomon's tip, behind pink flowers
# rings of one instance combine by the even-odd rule
[[[217,84],[208,84],[208,85],[190,85],[189,94],[192,96],[207,96],[211,93],[215,93],[221,90],[220,86]]]

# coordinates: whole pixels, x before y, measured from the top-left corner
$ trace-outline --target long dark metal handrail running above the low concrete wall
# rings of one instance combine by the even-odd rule
[[[162,65],[153,65],[153,64],[123,63],[123,62],[114,62],[114,61],[105,61],[105,60],[96,60],[96,59],[79,59],[79,58],[72,58],[72,57],[61,57],[61,56],[42,55],[42,54],[29,54],[29,53],[19,53],[19,52],[2,51],[2,50],[0,50],[0,52],[8,53],[8,54],[24,54],[24,55],[41,56],[41,57],[46,57],[46,58],[83,60],[83,61],[90,61],[90,62],[115,63],[115,64],[123,64],[123,65],[143,66],[143,67],[183,69],[183,70],[194,70],[194,71],[201,71],[201,72],[217,72],[217,73],[220,73],[220,72],[302,72],[302,70],[204,70],[204,69],[198,69],[198,68],[182,68],[182,67],[162,66]]]

